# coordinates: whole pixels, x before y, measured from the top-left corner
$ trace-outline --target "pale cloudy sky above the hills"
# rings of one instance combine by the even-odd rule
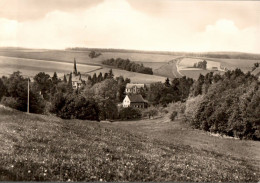
[[[260,53],[260,2],[0,0],[0,46]]]

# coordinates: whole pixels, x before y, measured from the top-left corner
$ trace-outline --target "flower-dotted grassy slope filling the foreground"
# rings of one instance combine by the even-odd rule
[[[0,180],[259,180],[259,169],[244,159],[130,130],[118,123],[61,120],[1,107]]]

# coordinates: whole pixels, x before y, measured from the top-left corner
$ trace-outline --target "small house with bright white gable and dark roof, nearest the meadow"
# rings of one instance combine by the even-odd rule
[[[147,108],[148,102],[140,94],[129,94],[123,100],[123,107]]]

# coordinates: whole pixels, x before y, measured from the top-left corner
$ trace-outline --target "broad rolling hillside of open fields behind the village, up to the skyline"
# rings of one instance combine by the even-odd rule
[[[102,53],[101,56],[91,59],[88,54],[91,50],[96,50]],[[140,75],[138,73],[129,73],[127,71],[114,69],[116,75],[123,75],[124,77],[133,77],[134,82],[154,82],[164,81],[165,77],[175,78],[187,76],[193,79],[197,79],[200,74],[205,75],[210,71],[190,69],[182,70],[179,68],[180,59],[205,59],[209,62],[220,63],[223,68],[235,69],[240,68],[244,72],[251,71],[251,68],[255,62],[257,62],[260,56],[258,54],[246,54],[246,53],[233,53],[233,52],[212,52],[212,53],[184,53],[184,52],[149,52],[149,51],[137,51],[137,50],[120,50],[120,49],[66,49],[66,50],[44,50],[44,49],[25,49],[25,48],[0,48],[0,56],[5,58],[20,58],[20,59],[34,59],[38,61],[56,61],[64,63],[72,63],[74,58],[76,58],[78,64],[87,65],[87,69],[82,69],[82,73],[90,72],[106,72],[107,66],[102,65],[102,61],[110,58],[122,58],[130,59],[133,62],[142,63],[146,67],[151,67],[153,69],[154,75]],[[215,58],[214,58],[215,57]],[[260,59],[259,59],[260,60]],[[191,61],[190,64],[192,64]],[[186,63],[189,64],[189,63]],[[27,68],[25,72],[51,71],[45,64],[42,64],[43,68],[38,67]],[[96,66],[97,68],[93,68]],[[28,67],[28,66],[27,66]],[[62,67],[56,67],[57,71],[64,70]],[[103,68],[103,70],[101,70]],[[97,70],[100,69],[100,70]],[[11,69],[12,70],[12,69]],[[95,71],[96,70],[96,71]],[[10,73],[10,68],[8,64],[5,66],[5,73]],[[2,72],[3,73],[3,72]],[[161,76],[161,77],[159,77]],[[146,77],[145,79],[140,79],[140,77]]]

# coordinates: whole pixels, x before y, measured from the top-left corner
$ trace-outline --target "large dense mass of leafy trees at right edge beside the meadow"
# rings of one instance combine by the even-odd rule
[[[195,128],[229,136],[260,140],[258,79],[240,69],[223,75],[200,76],[190,96],[202,96],[189,121]]]

